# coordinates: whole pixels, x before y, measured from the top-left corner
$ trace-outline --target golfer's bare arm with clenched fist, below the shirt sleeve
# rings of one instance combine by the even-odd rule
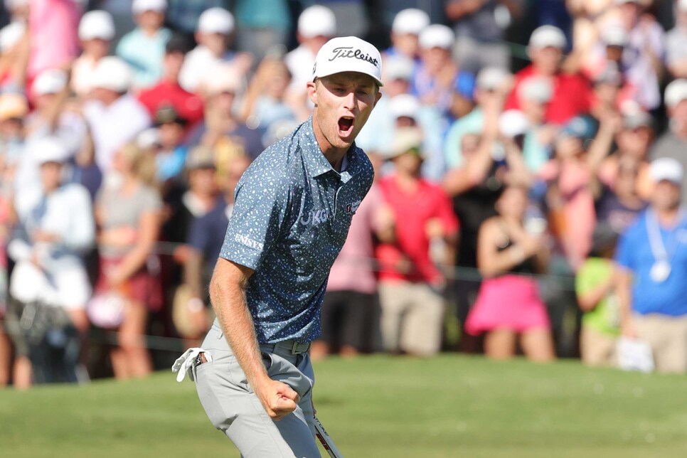
[[[255,336],[255,324],[246,303],[246,285],[253,270],[220,258],[210,282],[210,298],[236,360],[267,414],[274,420],[296,408],[298,394],[286,385],[267,376],[260,347]]]

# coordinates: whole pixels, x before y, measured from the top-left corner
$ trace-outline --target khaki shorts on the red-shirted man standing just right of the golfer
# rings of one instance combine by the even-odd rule
[[[430,356],[440,350],[444,298],[429,284],[381,282],[379,300],[385,351]]]

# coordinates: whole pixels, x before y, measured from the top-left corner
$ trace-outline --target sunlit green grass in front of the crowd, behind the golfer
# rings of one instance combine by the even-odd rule
[[[687,378],[446,355],[317,363],[318,417],[346,457],[684,457]],[[193,384],[0,391],[1,457],[238,457]]]

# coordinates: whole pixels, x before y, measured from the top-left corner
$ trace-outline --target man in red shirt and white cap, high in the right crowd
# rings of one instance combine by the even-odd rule
[[[516,73],[513,90],[506,100],[506,110],[521,109],[518,89],[524,80],[537,76],[550,78],[553,86],[546,122],[565,124],[573,117],[590,111],[593,97],[590,82],[579,73],[565,73],[561,69],[566,45],[565,35],[554,26],[541,26],[532,32],[528,47],[532,63]]]

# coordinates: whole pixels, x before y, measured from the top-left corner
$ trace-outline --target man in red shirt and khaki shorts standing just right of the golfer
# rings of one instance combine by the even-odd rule
[[[437,265],[451,264],[458,220],[443,189],[421,178],[421,144],[416,127],[395,133],[395,172],[379,182],[394,224],[378,233],[376,255],[385,350],[430,356],[440,349],[444,319],[444,278]]]

